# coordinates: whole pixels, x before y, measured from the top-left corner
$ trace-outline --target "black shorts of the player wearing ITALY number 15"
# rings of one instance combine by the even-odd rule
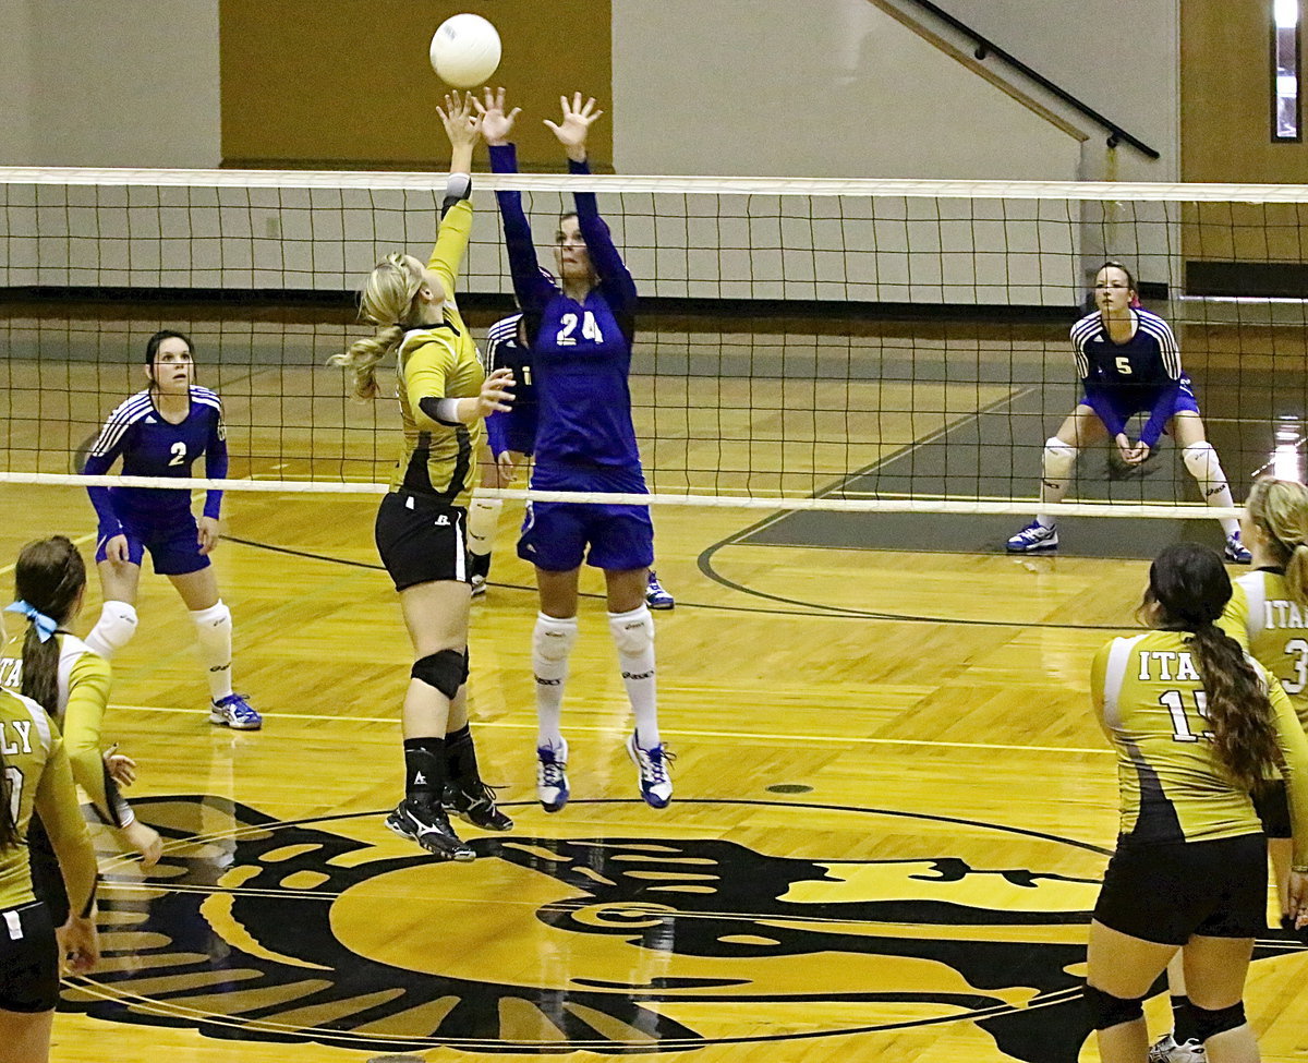
[[[1118,838],[1095,919],[1160,945],[1193,935],[1257,937],[1267,929],[1267,842],[1261,834],[1150,844]]]

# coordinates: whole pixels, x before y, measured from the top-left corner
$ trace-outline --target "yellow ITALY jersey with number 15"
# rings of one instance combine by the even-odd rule
[[[1206,729],[1197,657],[1184,631],[1113,639],[1091,666],[1100,724],[1117,749],[1121,834],[1131,842],[1202,842],[1262,830],[1249,793],[1227,778]],[[1254,664],[1267,682],[1261,665]],[[1290,699],[1267,682],[1295,827],[1308,857],[1308,738]]]

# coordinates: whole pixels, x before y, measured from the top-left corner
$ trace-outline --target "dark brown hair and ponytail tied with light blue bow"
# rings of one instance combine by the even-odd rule
[[[86,586],[86,566],[71,539],[51,535],[22,547],[13,583],[16,598],[63,624]],[[59,708],[59,640],[42,641],[33,622],[22,640],[22,693],[50,715]]]

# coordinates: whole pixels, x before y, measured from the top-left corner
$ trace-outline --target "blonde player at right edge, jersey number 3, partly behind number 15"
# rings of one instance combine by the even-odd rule
[[[1218,626],[1281,681],[1300,725],[1308,728],[1308,487],[1294,480],[1253,484],[1240,521],[1253,571],[1235,581]],[[1253,806],[1267,837],[1281,924],[1291,929],[1290,868],[1294,859],[1290,804],[1279,772],[1254,791]],[[1199,1063],[1181,957],[1168,965],[1173,1029],[1150,1049],[1151,1063]]]

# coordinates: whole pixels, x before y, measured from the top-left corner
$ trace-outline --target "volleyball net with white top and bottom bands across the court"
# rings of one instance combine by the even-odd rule
[[[1236,499],[1278,454],[1298,470],[1305,187],[473,183],[459,302],[483,347],[513,312],[493,191],[525,194],[545,266],[570,192],[599,192],[642,297],[632,399],[655,504],[1028,513],[1080,394],[1067,333],[1108,258],[1171,322]],[[388,368],[358,405],[326,361],[370,331],[352,293],[371,266],[425,258],[442,194],[439,173],[0,169],[0,482],[85,483],[85,448],[145,385],[146,338],[171,327],[224,399],[222,486],[385,490],[400,446]],[[1088,448],[1052,512],[1194,516],[1173,450],[1164,437],[1126,466]]]

